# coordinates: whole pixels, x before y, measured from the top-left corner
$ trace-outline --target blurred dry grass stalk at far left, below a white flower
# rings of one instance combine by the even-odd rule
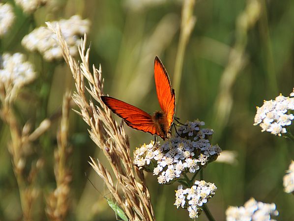
[[[29,123],[22,128],[14,114],[12,103],[15,100],[16,88],[11,83],[0,83],[0,117],[8,125],[11,141],[8,144],[8,150],[12,158],[13,171],[20,193],[20,201],[25,221],[33,220],[33,204],[39,195],[39,188],[36,185],[36,177],[43,166],[43,160],[40,158],[34,160],[27,170],[30,162],[28,157],[33,153],[31,141],[38,138],[29,138],[31,135]],[[47,128],[48,129],[48,128]],[[38,128],[35,130],[35,132]],[[42,130],[43,132],[45,130]],[[42,133],[43,133],[42,132]],[[38,133],[39,136],[42,133]],[[25,169],[25,167],[27,167]]]

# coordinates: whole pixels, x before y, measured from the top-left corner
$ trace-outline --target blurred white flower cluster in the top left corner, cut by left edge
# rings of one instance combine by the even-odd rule
[[[8,3],[0,3],[0,36],[7,33],[15,19],[13,8]]]

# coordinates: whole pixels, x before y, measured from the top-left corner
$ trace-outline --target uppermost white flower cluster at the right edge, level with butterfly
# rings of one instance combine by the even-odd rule
[[[264,101],[262,107],[257,108],[253,125],[260,125],[262,132],[281,136],[287,133],[286,126],[291,125],[294,115],[289,110],[294,110],[294,93],[290,97],[280,94],[275,100]],[[288,113],[288,114],[287,114]]]

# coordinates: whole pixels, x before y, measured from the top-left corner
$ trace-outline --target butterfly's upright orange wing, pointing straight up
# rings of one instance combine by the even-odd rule
[[[166,114],[168,128],[170,129],[174,122],[176,95],[174,89],[172,89],[169,75],[157,56],[154,60],[154,78],[158,102],[161,110]]]

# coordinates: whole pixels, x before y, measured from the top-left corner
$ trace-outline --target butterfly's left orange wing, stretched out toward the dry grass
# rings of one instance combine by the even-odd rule
[[[113,97],[101,96],[101,100],[131,128],[158,135],[152,117],[147,112]]]

